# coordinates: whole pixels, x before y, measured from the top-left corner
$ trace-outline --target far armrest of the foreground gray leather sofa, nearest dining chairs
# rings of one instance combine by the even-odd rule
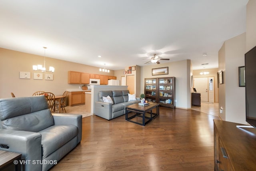
[[[82,115],[69,113],[52,113],[54,125],[75,125],[78,128],[78,141],[82,139]]]

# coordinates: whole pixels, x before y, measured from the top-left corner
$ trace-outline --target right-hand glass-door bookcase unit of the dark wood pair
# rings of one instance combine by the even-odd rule
[[[159,105],[175,108],[175,77],[158,78]]]

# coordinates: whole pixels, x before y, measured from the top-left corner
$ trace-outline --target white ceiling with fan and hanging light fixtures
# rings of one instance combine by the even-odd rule
[[[0,0],[0,48],[44,56],[46,46],[47,57],[111,70],[157,66],[144,64],[153,52],[218,68],[223,42],[246,32],[247,2]]]

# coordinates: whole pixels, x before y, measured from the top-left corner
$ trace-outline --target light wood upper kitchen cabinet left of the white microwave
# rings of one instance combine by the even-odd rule
[[[89,84],[90,74],[68,71],[68,84]]]

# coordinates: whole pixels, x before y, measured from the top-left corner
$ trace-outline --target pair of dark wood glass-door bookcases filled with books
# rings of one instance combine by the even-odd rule
[[[146,100],[175,108],[175,77],[145,78]]]

